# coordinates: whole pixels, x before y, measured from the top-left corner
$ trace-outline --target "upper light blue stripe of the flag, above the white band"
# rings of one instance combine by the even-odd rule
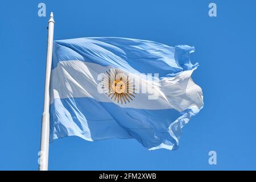
[[[112,66],[127,72],[159,73],[159,77],[175,76],[197,66],[189,55],[195,48],[170,47],[148,40],[126,38],[78,38],[53,43],[52,69],[59,61],[79,60]]]

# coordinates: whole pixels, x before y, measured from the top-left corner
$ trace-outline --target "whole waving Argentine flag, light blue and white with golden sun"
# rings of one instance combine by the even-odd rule
[[[53,42],[50,140],[134,138],[149,150],[179,146],[203,107],[190,46],[127,38]]]

